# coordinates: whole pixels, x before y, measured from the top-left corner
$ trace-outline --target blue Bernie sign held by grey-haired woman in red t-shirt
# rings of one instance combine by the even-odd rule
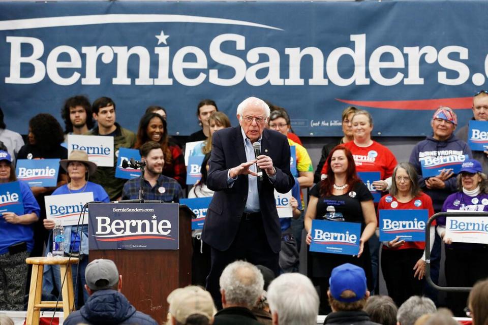
[[[426,209],[380,210],[380,241],[390,241],[398,236],[407,242],[424,242],[428,219]]]

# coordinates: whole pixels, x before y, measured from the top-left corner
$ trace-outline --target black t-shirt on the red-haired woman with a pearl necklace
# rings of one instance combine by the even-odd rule
[[[373,200],[373,195],[363,182],[357,182],[352,191],[327,197],[320,196],[320,183],[310,190],[310,195],[319,198],[316,219],[324,219],[333,212],[335,217],[344,217],[344,221],[364,223],[361,202]],[[327,207],[329,207],[327,209]],[[333,207],[333,209],[332,209]]]

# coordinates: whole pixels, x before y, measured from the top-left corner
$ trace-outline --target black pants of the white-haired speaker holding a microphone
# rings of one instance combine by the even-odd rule
[[[215,236],[219,236],[219,234],[215,234]],[[260,214],[249,218],[243,216],[237,235],[229,249],[220,251],[211,247],[210,254],[211,267],[206,289],[214,298],[217,309],[222,308],[219,279],[228,264],[242,259],[254,265],[263,265],[275,272],[276,276],[280,271],[279,253],[273,252],[269,247]]]

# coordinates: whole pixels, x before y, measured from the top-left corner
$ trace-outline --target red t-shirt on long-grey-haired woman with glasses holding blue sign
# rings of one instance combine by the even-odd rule
[[[395,203],[393,203],[395,202]],[[420,193],[417,197],[413,198],[409,202],[402,203],[396,200],[395,197],[390,194],[385,195],[381,198],[378,203],[378,216],[380,210],[429,210],[429,218],[434,214],[434,207],[432,205],[432,199],[425,193]],[[435,220],[431,226],[435,226]],[[405,244],[400,247],[391,248],[383,245],[383,249],[397,250],[397,249],[425,249],[425,242],[405,242]]]

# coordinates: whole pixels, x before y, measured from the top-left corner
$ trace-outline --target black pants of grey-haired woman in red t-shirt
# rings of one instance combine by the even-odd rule
[[[415,263],[422,257],[421,249],[383,249],[381,251],[381,271],[385,279],[388,296],[396,306],[402,305],[412,296],[421,296],[424,279],[414,278]]]

